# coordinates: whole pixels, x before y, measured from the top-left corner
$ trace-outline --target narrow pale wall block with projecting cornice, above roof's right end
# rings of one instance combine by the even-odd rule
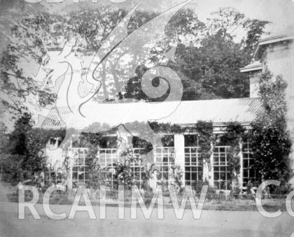
[[[259,77],[262,73],[262,64],[261,62],[253,62],[240,69],[241,73],[248,74],[250,78],[250,98],[258,98],[259,96]]]

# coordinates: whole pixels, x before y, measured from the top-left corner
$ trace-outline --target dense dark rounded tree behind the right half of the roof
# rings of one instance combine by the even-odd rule
[[[180,70],[193,80],[197,90],[193,94],[185,88],[185,99],[240,98],[248,96],[249,80],[239,68],[246,65],[240,45],[222,34],[207,36],[200,48],[181,45]],[[191,85],[191,83],[189,83]],[[190,86],[188,85],[188,86]]]

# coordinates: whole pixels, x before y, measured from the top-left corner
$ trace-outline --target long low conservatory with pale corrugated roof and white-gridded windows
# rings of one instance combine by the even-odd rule
[[[164,182],[174,182],[174,175],[177,169],[181,171],[181,185],[197,185],[207,182],[211,187],[221,190],[231,190],[234,187],[232,171],[229,167],[230,145],[214,143],[209,144],[209,161],[204,161],[200,151],[202,149],[200,134],[194,129],[199,121],[209,122],[213,126],[213,134],[223,134],[230,122],[241,124],[244,129],[250,129],[250,123],[254,120],[262,109],[259,99],[217,99],[209,101],[176,101],[158,103],[158,110],[148,110],[145,103],[110,103],[104,113],[107,116],[99,118],[99,124],[108,124],[114,128],[104,131],[99,145],[97,145],[97,172],[99,172],[100,182],[109,187],[118,185],[116,175],[118,164],[122,163],[130,166],[130,173],[134,184],[144,185],[144,180],[148,178],[151,187]],[[178,131],[159,131],[156,136],[160,136],[162,145],[147,149],[140,134],[136,134],[136,129],[130,132],[124,124],[146,123],[146,113],[162,114],[162,111],[169,111],[176,108],[172,114],[160,120],[158,124],[170,124],[181,129]],[[124,121],[121,123],[120,117],[116,115],[124,111]],[[136,111],[137,115],[132,118],[128,114]],[[60,110],[59,110],[60,113]],[[63,111],[62,113],[66,113]],[[80,134],[92,127],[94,131],[94,121],[87,121],[88,124],[76,124],[75,129],[78,135],[71,136],[71,143],[68,148],[62,150],[58,148],[61,140],[51,138],[48,142],[45,154],[48,156],[48,163],[52,167],[45,172],[45,182],[47,185],[61,182],[61,173],[64,172],[64,163],[69,165],[69,175],[67,175],[67,185],[69,188],[78,185],[88,185],[90,182],[89,150],[85,144],[85,139]],[[152,121],[151,121],[152,122]],[[97,123],[96,123],[97,124]],[[119,124],[119,125],[117,125]],[[97,125],[98,126],[98,125]],[[54,111],[50,113],[43,122],[45,129],[60,129],[62,123],[57,120]],[[141,128],[140,128],[141,129]],[[142,132],[142,131],[141,131]],[[143,131],[145,132],[145,131]],[[148,132],[148,131],[146,131]],[[78,136],[79,139],[76,139]],[[250,143],[239,141],[240,160],[237,179],[238,187],[246,189],[248,182],[252,184],[256,181],[255,170],[251,167],[254,159],[251,155]],[[69,159],[71,157],[71,159]],[[71,160],[71,161],[69,161]],[[146,175],[148,174],[148,177]],[[59,178],[60,176],[60,178]],[[236,181],[236,180],[235,180]],[[235,186],[236,187],[236,186]]]

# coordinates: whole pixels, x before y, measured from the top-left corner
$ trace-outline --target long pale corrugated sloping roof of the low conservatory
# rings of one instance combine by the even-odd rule
[[[172,101],[152,104],[151,103],[111,103],[100,107],[103,116],[97,119],[76,121],[75,129],[83,129],[94,122],[118,126],[127,122],[147,122],[156,120],[171,124],[195,124],[197,121],[211,121],[214,123],[240,122],[249,124],[262,110],[260,99],[216,99],[207,101]],[[88,112],[94,111],[94,103],[87,107]],[[90,110],[90,111],[89,111]],[[162,114],[166,116],[162,117]],[[172,113],[169,113],[172,111]],[[69,113],[68,108],[59,108],[59,114]],[[160,116],[162,117],[160,119]],[[149,117],[149,119],[148,119]],[[58,120],[57,112],[52,110],[48,118],[43,122],[44,129],[58,129],[64,127]]]

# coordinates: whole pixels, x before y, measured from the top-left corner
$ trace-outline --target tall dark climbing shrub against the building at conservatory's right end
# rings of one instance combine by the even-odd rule
[[[279,180],[286,185],[290,179],[289,154],[292,142],[286,123],[286,82],[280,77],[272,82],[269,71],[260,77],[262,113],[251,123],[250,141],[255,157],[258,180]]]

